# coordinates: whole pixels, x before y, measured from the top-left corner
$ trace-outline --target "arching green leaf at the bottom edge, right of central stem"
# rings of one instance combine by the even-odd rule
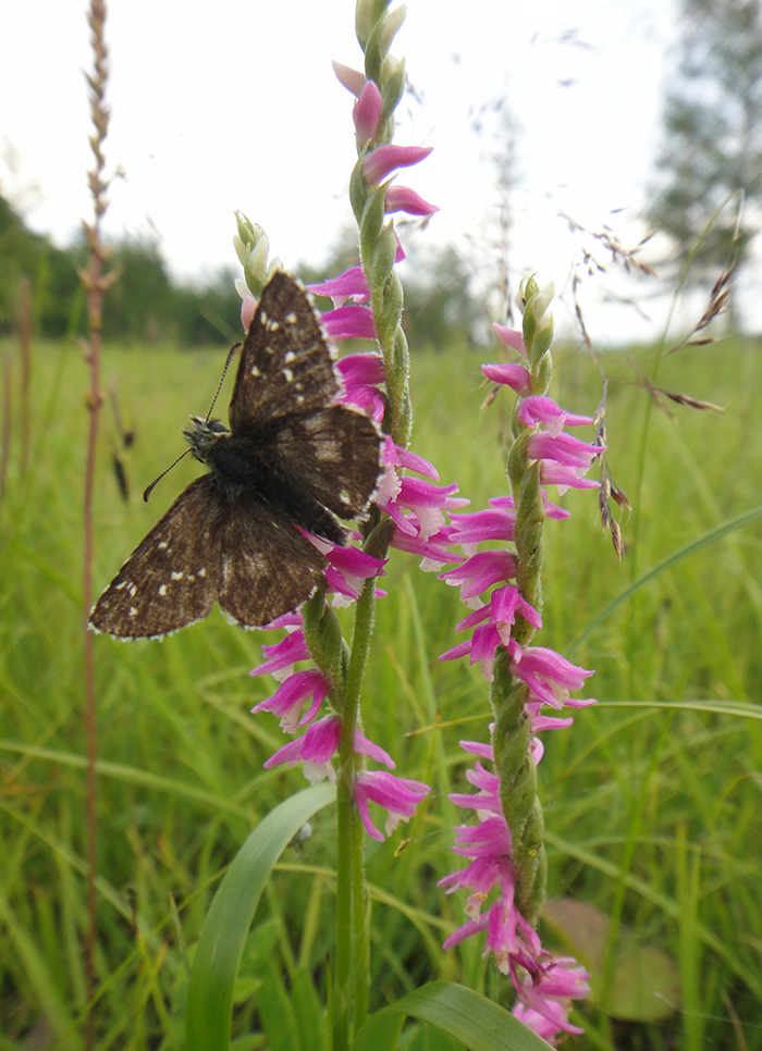
[[[392,1012],[441,1029],[469,1051],[548,1051],[544,1040],[493,1000],[447,981],[430,981],[373,1015],[353,1051],[391,1051],[395,1047],[394,1028],[388,1022]]]

